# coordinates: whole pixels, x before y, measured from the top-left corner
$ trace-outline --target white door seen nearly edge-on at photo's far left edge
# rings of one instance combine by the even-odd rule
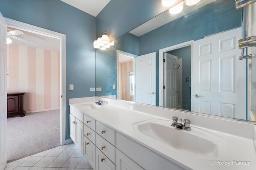
[[[7,54],[6,22],[0,13],[0,170],[4,170],[7,161]]]

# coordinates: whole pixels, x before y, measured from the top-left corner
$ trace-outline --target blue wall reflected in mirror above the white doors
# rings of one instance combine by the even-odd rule
[[[218,0],[140,36],[139,55],[156,52],[156,91],[159,92],[159,49],[240,27],[240,18],[241,10],[236,10],[234,1]]]

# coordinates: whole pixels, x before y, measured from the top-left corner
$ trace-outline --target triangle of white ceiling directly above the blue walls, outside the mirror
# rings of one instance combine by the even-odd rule
[[[92,16],[97,16],[110,0],[61,0]]]

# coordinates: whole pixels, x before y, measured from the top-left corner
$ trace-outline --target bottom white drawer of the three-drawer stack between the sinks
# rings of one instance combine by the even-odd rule
[[[96,170],[116,170],[116,165],[96,148]]]

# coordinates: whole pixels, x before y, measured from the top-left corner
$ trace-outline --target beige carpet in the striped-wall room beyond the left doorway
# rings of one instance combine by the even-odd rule
[[[60,145],[60,110],[7,119],[7,162]]]

